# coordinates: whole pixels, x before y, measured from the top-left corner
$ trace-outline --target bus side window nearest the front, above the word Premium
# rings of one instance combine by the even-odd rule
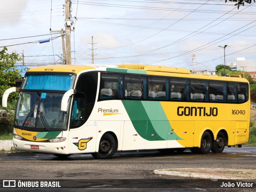
[[[100,100],[122,99],[122,75],[102,73],[100,78]]]

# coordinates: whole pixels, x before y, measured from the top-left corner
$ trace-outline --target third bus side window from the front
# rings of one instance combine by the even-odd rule
[[[169,80],[162,77],[148,77],[148,99],[169,100]]]

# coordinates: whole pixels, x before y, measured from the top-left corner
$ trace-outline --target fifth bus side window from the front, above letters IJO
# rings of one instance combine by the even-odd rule
[[[206,80],[190,80],[191,101],[209,100],[209,83]]]

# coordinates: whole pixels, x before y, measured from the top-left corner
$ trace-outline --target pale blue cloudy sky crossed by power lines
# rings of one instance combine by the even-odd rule
[[[256,3],[225,0],[71,0],[72,64],[149,64],[214,70],[237,57],[256,60]],[[65,0],[2,1],[0,49],[27,65],[60,63]],[[76,17],[76,19],[74,18]],[[51,39],[39,44],[39,40]]]

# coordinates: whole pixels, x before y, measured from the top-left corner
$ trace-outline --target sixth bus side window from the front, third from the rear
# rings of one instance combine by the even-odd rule
[[[226,82],[210,81],[210,102],[226,102],[226,90]]]

